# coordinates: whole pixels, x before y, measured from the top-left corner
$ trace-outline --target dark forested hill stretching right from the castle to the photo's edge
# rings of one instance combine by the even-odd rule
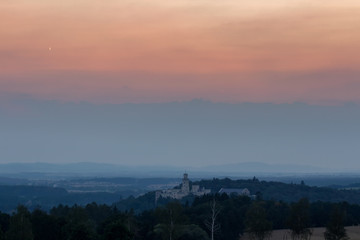
[[[359,190],[337,190],[326,187],[310,187],[304,182],[299,184],[287,184],[282,182],[266,182],[257,178],[249,180],[231,180],[229,178],[201,180],[194,182],[202,187],[218,192],[221,188],[247,188],[251,194],[258,195],[267,200],[281,200],[296,202],[301,198],[310,201],[348,202],[360,204]]]

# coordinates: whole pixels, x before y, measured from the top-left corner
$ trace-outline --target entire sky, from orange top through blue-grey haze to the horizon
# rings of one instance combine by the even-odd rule
[[[0,162],[360,169],[359,29],[358,0],[1,0]]]

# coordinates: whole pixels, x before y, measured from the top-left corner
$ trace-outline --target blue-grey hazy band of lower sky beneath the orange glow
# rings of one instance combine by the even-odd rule
[[[92,104],[28,96],[8,103],[11,108],[0,104],[0,163],[101,162],[191,172],[262,162],[308,172],[360,170],[357,104]]]

